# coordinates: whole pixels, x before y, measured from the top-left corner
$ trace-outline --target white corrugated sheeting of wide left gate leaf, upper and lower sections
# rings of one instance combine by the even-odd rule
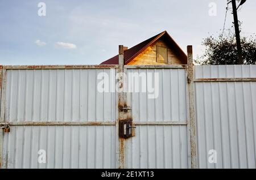
[[[12,125],[4,134],[2,168],[117,168],[116,94],[97,91],[101,72],[115,74],[103,68],[7,70],[5,121],[38,124]],[[40,125],[45,122],[60,124]],[[46,163],[38,162],[40,149]]]

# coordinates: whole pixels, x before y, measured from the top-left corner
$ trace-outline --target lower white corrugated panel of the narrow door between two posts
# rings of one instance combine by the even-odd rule
[[[187,126],[142,125],[127,140],[128,168],[188,168]]]

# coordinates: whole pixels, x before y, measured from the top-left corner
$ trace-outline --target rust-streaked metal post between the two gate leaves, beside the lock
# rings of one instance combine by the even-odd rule
[[[123,58],[123,45],[119,45],[119,55],[118,55],[118,61],[119,61],[119,66],[118,66],[118,129],[119,131],[119,122],[126,120],[127,119],[127,114],[124,111],[121,111],[121,107],[125,106],[125,101],[126,101],[126,94],[123,92],[124,88],[124,70],[123,66],[125,65],[124,63],[124,58]],[[122,128],[122,127],[121,127]],[[119,149],[118,149],[118,168],[125,168],[125,139],[121,138],[118,135],[118,143],[119,143]]]

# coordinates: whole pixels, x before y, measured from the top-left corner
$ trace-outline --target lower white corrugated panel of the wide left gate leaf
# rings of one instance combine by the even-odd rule
[[[116,140],[115,126],[11,126],[2,168],[116,168]]]

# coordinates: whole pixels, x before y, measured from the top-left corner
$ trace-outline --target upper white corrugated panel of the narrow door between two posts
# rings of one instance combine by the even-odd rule
[[[134,80],[127,80],[138,82],[139,89],[143,85],[152,84],[155,87],[154,74],[158,74],[159,83],[157,98],[148,98],[151,90],[147,92],[128,93],[127,104],[133,107],[132,117],[134,122],[144,121],[187,121],[187,99],[186,99],[186,75],[185,68],[177,69],[128,69],[127,73],[146,74],[147,82],[142,80],[141,77],[136,76]],[[151,75],[149,75],[151,74]],[[153,79],[151,80],[152,77]],[[152,83],[151,83],[151,82]],[[155,88],[156,89],[156,88]]]

